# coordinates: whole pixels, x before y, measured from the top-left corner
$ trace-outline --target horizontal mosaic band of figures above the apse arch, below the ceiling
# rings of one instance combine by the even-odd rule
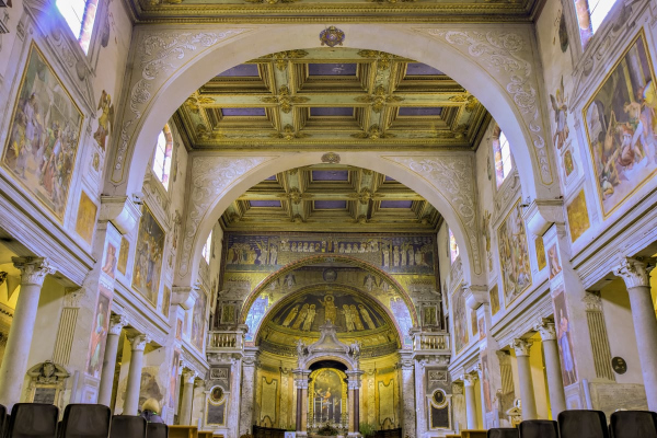
[[[434,274],[435,241],[430,234],[227,233],[227,272],[275,272],[314,254],[339,254],[368,262],[388,273]]]

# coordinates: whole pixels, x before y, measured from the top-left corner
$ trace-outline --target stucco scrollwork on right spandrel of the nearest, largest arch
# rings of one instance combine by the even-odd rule
[[[552,184],[530,42],[525,36],[512,32],[482,33],[423,27],[417,27],[415,31],[441,38],[452,46],[464,47],[464,54],[484,67],[497,82],[505,87],[533,136],[533,151],[541,171],[541,181],[544,184]]]

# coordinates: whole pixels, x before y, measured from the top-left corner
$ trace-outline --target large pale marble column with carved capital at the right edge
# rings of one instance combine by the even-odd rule
[[[652,265],[638,257],[627,257],[621,261],[614,274],[622,277],[627,287],[648,410],[657,411],[657,318],[650,296],[649,270],[654,263]]]

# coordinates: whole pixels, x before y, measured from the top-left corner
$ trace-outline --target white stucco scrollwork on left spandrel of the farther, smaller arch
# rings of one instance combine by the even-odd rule
[[[275,157],[195,157],[192,162],[192,187],[180,257],[178,275],[189,272],[194,239],[200,221],[224,189],[250,170]]]

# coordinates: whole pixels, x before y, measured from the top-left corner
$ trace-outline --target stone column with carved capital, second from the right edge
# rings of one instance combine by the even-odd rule
[[[558,359],[558,348],[556,346],[556,330],[554,328],[554,323],[544,320],[541,321],[534,330],[541,334],[541,339],[543,341],[550,408],[552,410],[552,418],[556,418],[560,412],[566,410],[564,380],[561,371],[561,361]]]

